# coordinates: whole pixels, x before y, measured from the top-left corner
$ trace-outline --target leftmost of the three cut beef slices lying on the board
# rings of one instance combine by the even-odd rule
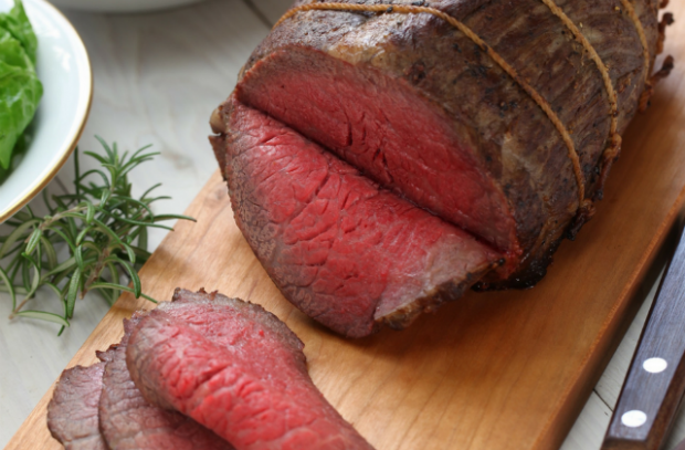
[[[105,363],[62,373],[48,405],[48,428],[66,450],[107,450],[99,432],[97,404]]]

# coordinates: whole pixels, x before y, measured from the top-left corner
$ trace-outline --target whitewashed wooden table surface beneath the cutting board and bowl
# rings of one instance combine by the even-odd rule
[[[160,211],[182,211],[215,170],[207,143],[209,113],[235,84],[252,49],[291,0],[214,0],[171,11],[106,15],[65,11],[81,33],[93,64],[95,92],[83,149],[97,148],[94,135],[122,147],[154,144],[157,163],[131,175],[134,191],[165,184],[172,201]],[[72,179],[70,164],[50,189]],[[155,248],[162,233],[150,237]],[[668,245],[673,245],[672,242]],[[663,261],[657,261],[657,273]],[[598,449],[630,364],[649,305],[645,302],[567,437],[563,450]],[[0,294],[0,447],[10,440],[62,368],[106,312],[96,296],[77,305],[76,320],[62,337],[56,327],[9,322],[9,299]],[[677,419],[666,449],[685,438]]]

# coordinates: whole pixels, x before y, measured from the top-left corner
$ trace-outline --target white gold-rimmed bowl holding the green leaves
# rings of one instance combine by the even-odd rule
[[[43,98],[33,119],[31,145],[0,185],[0,223],[39,193],[66,161],[81,137],[93,94],[88,54],[76,30],[45,0],[23,3],[38,36]],[[12,4],[0,0],[0,11],[9,11]]]

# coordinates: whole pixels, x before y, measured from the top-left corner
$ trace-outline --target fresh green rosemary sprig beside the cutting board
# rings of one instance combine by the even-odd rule
[[[11,297],[10,318],[54,322],[62,325],[62,334],[74,316],[76,299],[92,290],[110,305],[122,291],[156,303],[143,293],[137,273],[150,257],[148,229],[172,230],[158,222],[194,219],[155,214],[150,205],[169,198],[151,195],[160,185],[152,186],[139,199],[131,197],[128,172],[158,155],[146,151],[150,146],[129,156],[126,151],[119,154],[116,144],[110,147],[97,139],[104,155],[85,155],[95,158],[102,168],[81,174],[78,149],[74,153],[75,193],[49,197],[44,190],[49,216],[39,218],[27,206],[6,222],[11,231],[0,236],[0,292]],[[63,314],[25,308],[41,287],[54,292],[63,304]]]

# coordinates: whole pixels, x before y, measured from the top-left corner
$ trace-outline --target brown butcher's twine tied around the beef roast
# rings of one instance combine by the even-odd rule
[[[607,65],[601,60],[592,44],[586,39],[586,36],[580,32],[576,23],[569,19],[569,17],[552,1],[552,0],[541,0],[549,10],[557,15],[565,27],[573,34],[576,40],[582,44],[586,49],[590,59],[597,65],[597,69],[600,72],[602,77],[602,82],[604,84],[604,88],[607,91],[607,97],[609,102],[609,117],[610,117],[610,129],[609,129],[609,144],[604,151],[602,153],[601,164],[602,171],[600,175],[599,187],[603,185],[603,180],[605,179],[607,171],[611,166],[612,161],[619,156],[621,150],[621,136],[618,134],[618,97],[615,90],[613,87],[613,83],[611,81],[611,76],[609,75],[609,70]],[[623,8],[628,12],[629,18],[635,25],[637,34],[640,36],[640,41],[643,46],[644,54],[644,73],[645,73],[645,82],[649,83],[649,74],[650,74],[650,50],[647,48],[647,40],[644,34],[644,28],[642,27],[642,22],[640,18],[635,13],[633,6],[630,3],[630,0],[621,0]],[[591,216],[593,212],[592,201],[590,199],[586,199],[586,179],[580,167],[580,158],[578,156],[578,151],[576,150],[576,145],[573,144],[573,139],[567,127],[561,123],[559,116],[552,111],[551,105],[542,98],[542,96],[524,79],[518,75],[516,69],[514,69],[509,63],[507,63],[496,51],[494,51],[489,45],[485,43],[473,30],[466,27],[464,23],[455,19],[454,17],[447,14],[435,8],[430,7],[421,7],[413,4],[355,4],[355,3],[334,3],[334,2],[323,2],[323,3],[307,3],[301,4],[295,8],[288,10],[274,25],[274,28],[278,27],[283,21],[292,18],[298,12],[304,11],[363,11],[363,12],[381,12],[381,13],[390,13],[398,12],[402,14],[419,14],[419,13],[429,13],[433,14],[445,22],[450,23],[452,27],[456,28],[459,31],[464,33],[468,39],[471,39],[476,45],[478,45],[487,55],[497,63],[502,70],[504,70],[518,85],[533,98],[533,101],[545,112],[550,122],[555,125],[559,135],[561,135],[561,139],[566,144],[568,148],[568,156],[571,160],[573,167],[573,175],[576,177],[576,182],[578,185],[578,209],[579,216]]]

